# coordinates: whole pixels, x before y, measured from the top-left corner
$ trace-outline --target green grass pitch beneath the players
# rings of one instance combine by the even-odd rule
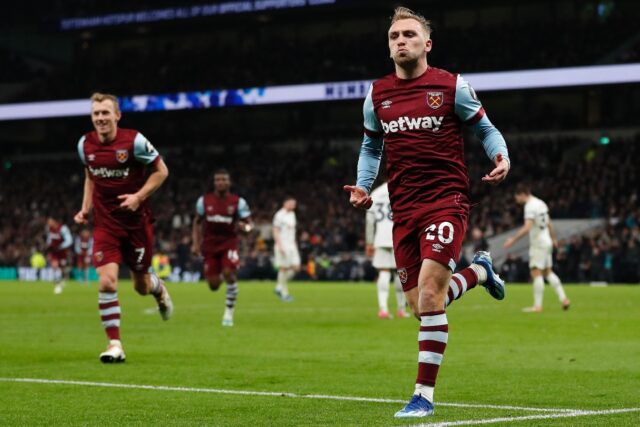
[[[541,314],[520,311],[530,286],[502,302],[470,291],[447,310],[435,416],[413,420],[393,414],[413,391],[418,323],[379,320],[373,284],[296,283],[283,303],[243,282],[233,328],[223,292],[169,287],[162,322],[120,284],[127,361],[103,365],[95,284],[0,282],[0,425],[640,425],[640,286],[567,286],[568,312],[547,287]]]

